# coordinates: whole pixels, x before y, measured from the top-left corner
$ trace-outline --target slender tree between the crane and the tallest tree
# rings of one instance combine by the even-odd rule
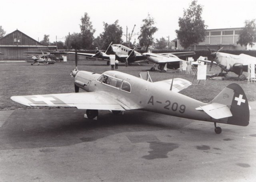
[[[151,18],[149,15],[146,19],[142,20],[144,24],[140,27],[141,34],[138,36],[140,46],[146,47],[146,52],[148,52],[148,47],[151,46],[154,42],[153,35],[158,30],[155,26],[154,18]]]

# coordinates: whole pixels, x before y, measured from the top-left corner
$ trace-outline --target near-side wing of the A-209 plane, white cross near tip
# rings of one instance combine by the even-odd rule
[[[120,104],[96,92],[12,96],[25,106],[76,107],[78,109],[125,110]]]

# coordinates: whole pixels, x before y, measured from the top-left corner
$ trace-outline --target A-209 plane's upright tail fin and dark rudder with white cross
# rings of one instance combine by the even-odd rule
[[[242,87],[238,84],[229,84],[224,88],[211,103],[218,103],[228,106],[231,117],[228,117],[227,124],[247,126],[250,120],[248,100]]]

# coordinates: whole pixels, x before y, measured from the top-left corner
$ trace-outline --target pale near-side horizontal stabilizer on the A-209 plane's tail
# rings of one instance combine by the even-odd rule
[[[218,103],[208,104],[206,106],[200,106],[200,108],[196,108],[196,110],[203,110],[214,119],[221,119],[231,117],[232,113],[228,106]]]

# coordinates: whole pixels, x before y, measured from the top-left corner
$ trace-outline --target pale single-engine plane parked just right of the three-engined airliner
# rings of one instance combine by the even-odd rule
[[[150,52],[143,53],[142,55],[149,61],[153,62],[154,65],[150,68],[151,71],[155,70],[156,64],[158,64],[158,69],[161,71],[166,71],[169,69],[180,68],[180,56],[190,56],[196,54],[195,52],[172,52],[172,53],[162,53],[154,54]]]

